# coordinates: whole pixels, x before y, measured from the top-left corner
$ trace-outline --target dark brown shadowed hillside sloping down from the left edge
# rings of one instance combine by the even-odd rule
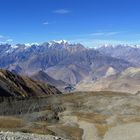
[[[61,94],[54,86],[21,77],[8,70],[0,70],[0,96],[46,96]]]

